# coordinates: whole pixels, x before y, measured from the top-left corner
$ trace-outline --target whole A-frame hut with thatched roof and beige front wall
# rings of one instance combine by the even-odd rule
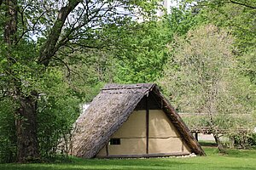
[[[71,154],[92,157],[204,156],[156,84],[108,84],[79,116]]]

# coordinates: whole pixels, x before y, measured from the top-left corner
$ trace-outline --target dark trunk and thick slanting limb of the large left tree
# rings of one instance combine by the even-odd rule
[[[68,14],[70,14],[74,8],[76,8],[81,0],[69,0],[65,7],[62,7],[57,15],[55,24],[52,27],[47,41],[40,50],[40,56],[38,64],[48,66],[49,60],[55,55],[55,52],[60,48],[56,47],[57,42],[61,36],[62,27],[67,20]],[[3,13],[5,14],[6,20],[4,20],[3,26],[3,40],[8,46],[9,52],[6,58],[9,61],[8,75],[14,77],[15,73],[12,72],[12,66],[16,64],[17,59],[12,54],[12,47],[17,45],[18,37],[18,0],[0,0],[0,5],[4,5]],[[19,54],[19,53],[14,53]],[[22,56],[19,56],[20,58]],[[13,97],[20,106],[16,111],[16,135],[17,135],[17,161],[27,162],[38,160],[39,147],[37,139],[37,94],[30,94],[25,96],[20,90],[21,80],[14,77],[15,88],[18,89],[13,94]]]

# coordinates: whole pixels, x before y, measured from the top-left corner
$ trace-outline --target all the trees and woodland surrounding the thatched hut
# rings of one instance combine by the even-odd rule
[[[207,115],[189,126],[221,151],[219,128],[255,144],[236,129],[255,127],[256,2],[183,0],[160,18],[158,4],[0,0],[0,162],[54,159],[109,82],[158,83],[177,111]]]

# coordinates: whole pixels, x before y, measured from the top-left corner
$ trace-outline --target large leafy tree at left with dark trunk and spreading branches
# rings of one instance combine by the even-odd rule
[[[106,25],[123,26],[129,14],[150,16],[156,1],[0,1],[1,95],[10,96],[15,109],[17,161],[37,160],[38,98],[44,80],[79,47],[106,47]],[[120,9],[121,8],[121,9]],[[133,10],[135,11],[135,10]],[[2,98],[2,96],[1,96]]]

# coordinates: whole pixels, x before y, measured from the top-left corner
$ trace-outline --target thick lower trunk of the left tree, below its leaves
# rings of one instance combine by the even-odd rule
[[[37,95],[20,96],[20,108],[17,110],[17,161],[38,161],[39,146],[37,139]]]

